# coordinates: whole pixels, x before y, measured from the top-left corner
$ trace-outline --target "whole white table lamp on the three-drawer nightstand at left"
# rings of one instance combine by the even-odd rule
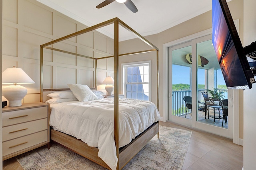
[[[2,95],[9,101],[9,107],[21,106],[21,100],[28,90],[17,84],[35,83],[22,68],[7,68],[2,73],[2,84],[12,84],[2,89]]]

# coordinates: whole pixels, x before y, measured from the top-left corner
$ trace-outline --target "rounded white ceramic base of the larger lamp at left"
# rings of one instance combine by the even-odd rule
[[[26,96],[28,90],[20,85],[6,86],[2,89],[3,96],[9,101],[9,107],[21,106],[21,100]]]

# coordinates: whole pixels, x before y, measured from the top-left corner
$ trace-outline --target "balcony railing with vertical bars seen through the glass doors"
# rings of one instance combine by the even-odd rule
[[[198,100],[204,102],[202,92],[208,92],[207,89],[198,90]],[[220,89],[218,92],[224,92],[223,98],[228,98],[228,90]],[[182,116],[186,114],[186,104],[183,100],[184,96],[191,96],[191,90],[173,91],[172,92],[172,115]],[[189,110],[188,110],[189,112]]]

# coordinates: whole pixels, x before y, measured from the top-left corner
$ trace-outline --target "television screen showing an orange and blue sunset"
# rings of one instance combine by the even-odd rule
[[[249,88],[219,0],[212,0],[212,43],[226,86]]]

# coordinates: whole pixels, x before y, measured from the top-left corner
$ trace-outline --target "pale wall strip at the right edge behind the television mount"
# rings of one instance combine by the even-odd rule
[[[256,41],[256,1],[244,0],[244,45]],[[254,77],[255,78],[255,77]],[[244,167],[243,170],[255,170],[256,157],[256,84],[252,84],[251,90],[244,90]]]

